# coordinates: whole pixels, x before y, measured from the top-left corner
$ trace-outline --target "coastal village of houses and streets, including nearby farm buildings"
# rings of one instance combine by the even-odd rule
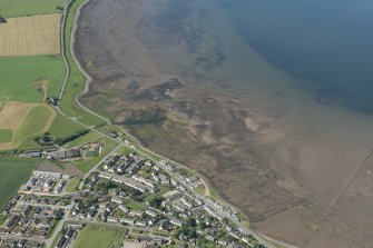
[[[100,150],[89,143],[26,156],[70,161]],[[0,247],[73,247],[87,225],[124,228],[121,247],[264,247],[236,225],[239,214],[205,190],[193,171],[130,148],[80,178],[35,170],[2,209]]]

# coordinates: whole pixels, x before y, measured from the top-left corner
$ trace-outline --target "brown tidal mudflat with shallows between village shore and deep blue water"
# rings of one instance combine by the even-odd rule
[[[316,101],[239,39],[208,33],[234,36],[198,4],[214,1],[91,0],[75,47],[94,77],[84,103],[204,173],[258,231],[370,247],[372,118]]]

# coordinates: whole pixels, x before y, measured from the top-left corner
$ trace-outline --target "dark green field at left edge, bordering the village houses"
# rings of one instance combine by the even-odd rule
[[[0,158],[0,209],[16,195],[39,162],[39,159]]]

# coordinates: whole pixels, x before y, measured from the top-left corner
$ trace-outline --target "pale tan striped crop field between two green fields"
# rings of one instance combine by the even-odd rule
[[[60,53],[60,13],[9,18],[0,24],[0,56]]]

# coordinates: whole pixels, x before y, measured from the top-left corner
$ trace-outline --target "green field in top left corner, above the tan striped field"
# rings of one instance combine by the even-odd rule
[[[0,16],[4,18],[59,13],[58,6],[63,7],[66,0],[0,0]]]

